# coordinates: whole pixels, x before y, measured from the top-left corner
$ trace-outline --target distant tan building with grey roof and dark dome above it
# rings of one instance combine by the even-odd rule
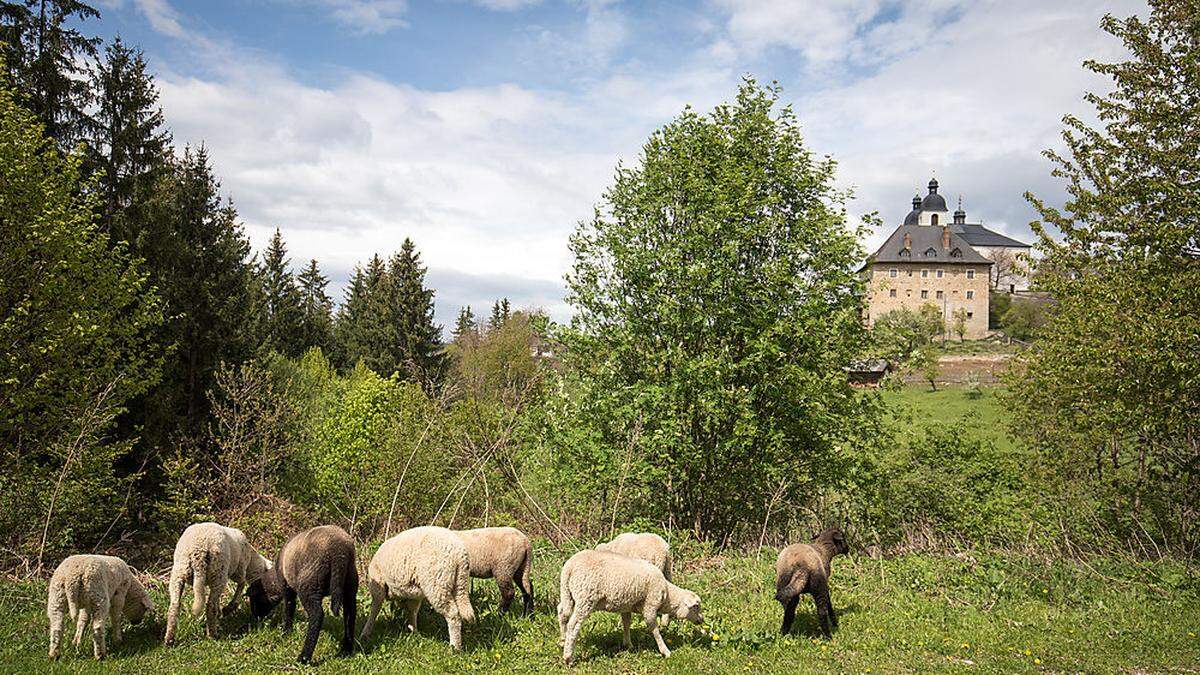
[[[859,269],[866,282],[866,323],[907,307],[919,311],[931,304],[942,312],[947,335],[954,334],[954,317],[965,315],[965,338],[988,336],[988,300],[994,262],[971,245],[954,226],[967,226],[961,209],[949,217],[937,180],[929,195],[913,197],[904,225],[888,237]],[[982,228],[983,226],[978,226]],[[991,231],[988,231],[991,232]]]

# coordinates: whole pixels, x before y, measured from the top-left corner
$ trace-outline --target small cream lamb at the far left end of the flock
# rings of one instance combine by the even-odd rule
[[[84,628],[91,623],[92,655],[100,659],[108,656],[104,620],[113,625],[113,643],[120,644],[121,619],[137,626],[150,609],[150,593],[124,560],[108,555],[73,555],[50,577],[46,601],[46,615],[50,619],[50,658],[56,659],[60,655],[62,622],[67,614],[76,622],[76,646],[83,639]]]

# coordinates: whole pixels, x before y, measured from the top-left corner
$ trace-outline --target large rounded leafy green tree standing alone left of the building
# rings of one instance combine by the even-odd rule
[[[778,98],[746,80],[732,104],[685,109],[570,240],[581,401],[562,407],[617,467],[596,503],[622,484],[641,515],[704,538],[815,504],[875,419],[844,371],[865,338],[860,228]]]

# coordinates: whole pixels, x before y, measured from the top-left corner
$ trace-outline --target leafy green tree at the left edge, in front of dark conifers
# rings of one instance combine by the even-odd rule
[[[138,261],[97,227],[79,175],[80,159],[60,155],[0,88],[0,549],[10,561],[56,556],[113,522],[127,448],[109,432],[162,365],[162,305]]]

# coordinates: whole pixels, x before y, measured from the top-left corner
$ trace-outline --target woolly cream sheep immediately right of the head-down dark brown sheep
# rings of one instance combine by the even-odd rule
[[[427,599],[445,617],[450,645],[462,649],[462,623],[475,620],[470,607],[470,562],[467,544],[445,527],[414,527],[388,539],[367,567],[371,611],[360,638],[374,628],[384,598],[408,602],[408,629],[416,631],[416,611]]]

